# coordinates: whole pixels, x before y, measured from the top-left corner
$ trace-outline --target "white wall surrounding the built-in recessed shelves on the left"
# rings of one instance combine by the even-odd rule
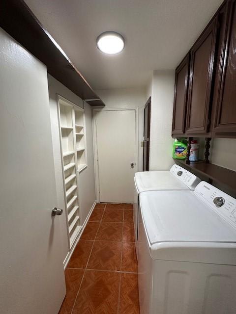
[[[63,179],[62,167],[60,156],[60,141],[59,141],[59,124],[58,124],[58,111],[57,111],[57,94],[68,99],[75,105],[83,107],[82,100],[72,93],[67,87],[62,85],[58,80],[48,75],[48,88],[49,88],[49,102],[50,102],[50,115],[52,125],[52,138],[53,138],[53,152],[57,184],[57,197],[58,206],[65,210],[64,194],[63,194]],[[92,144],[92,118],[91,107],[85,104],[86,116],[86,141],[87,141],[87,157],[88,167],[85,168],[79,175],[79,195],[81,199],[81,224],[84,223],[95,201],[95,179],[94,179],[94,161],[93,161],[93,144]],[[60,218],[61,230],[61,250],[63,251],[64,258],[66,257],[69,246],[67,240],[66,230],[66,216],[62,215]]]

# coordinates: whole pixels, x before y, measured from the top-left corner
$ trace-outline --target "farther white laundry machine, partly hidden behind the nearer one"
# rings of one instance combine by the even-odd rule
[[[134,232],[137,251],[139,193],[152,190],[193,190],[200,179],[184,168],[173,165],[169,171],[136,172],[134,176]]]

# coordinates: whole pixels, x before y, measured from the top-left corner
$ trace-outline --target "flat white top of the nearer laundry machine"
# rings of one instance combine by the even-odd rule
[[[193,191],[140,194],[150,245],[161,242],[236,242],[236,229]]]

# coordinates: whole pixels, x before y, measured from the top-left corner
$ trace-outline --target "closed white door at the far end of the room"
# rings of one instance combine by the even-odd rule
[[[133,203],[135,110],[97,111],[95,124],[100,202]]]

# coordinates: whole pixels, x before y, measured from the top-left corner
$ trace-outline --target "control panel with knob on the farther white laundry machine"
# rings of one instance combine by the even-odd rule
[[[194,190],[198,183],[201,182],[194,174],[178,165],[173,165],[170,169],[170,173],[177,177],[178,180],[185,183],[191,190]]]

